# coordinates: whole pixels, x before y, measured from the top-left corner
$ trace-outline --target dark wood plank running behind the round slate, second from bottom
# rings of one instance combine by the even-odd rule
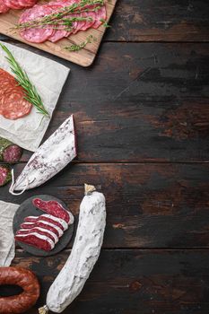
[[[208,247],[209,164],[75,164],[22,196],[1,188],[1,199],[20,204],[39,194],[57,196],[77,222],[84,182],[107,198],[105,248]]]

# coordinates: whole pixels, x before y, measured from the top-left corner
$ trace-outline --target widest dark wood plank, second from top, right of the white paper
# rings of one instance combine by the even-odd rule
[[[208,65],[207,44],[106,43],[71,65],[46,136],[74,113],[78,161],[208,161]]]

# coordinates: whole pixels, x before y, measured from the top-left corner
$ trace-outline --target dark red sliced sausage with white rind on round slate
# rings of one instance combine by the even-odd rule
[[[21,229],[16,232],[15,240],[50,251],[69,225],[74,223],[74,216],[56,201],[34,198],[33,205],[47,214],[26,217]]]

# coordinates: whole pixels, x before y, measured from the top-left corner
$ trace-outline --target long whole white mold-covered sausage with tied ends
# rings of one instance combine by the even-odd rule
[[[47,304],[40,314],[52,310],[61,313],[82,291],[83,285],[100,256],[106,225],[105,197],[92,186],[85,185],[80,206],[74,246],[65,266],[49,288]]]

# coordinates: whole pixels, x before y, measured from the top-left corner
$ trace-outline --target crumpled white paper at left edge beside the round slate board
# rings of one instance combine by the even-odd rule
[[[0,201],[0,267],[10,266],[15,255],[13,216],[19,206]]]

